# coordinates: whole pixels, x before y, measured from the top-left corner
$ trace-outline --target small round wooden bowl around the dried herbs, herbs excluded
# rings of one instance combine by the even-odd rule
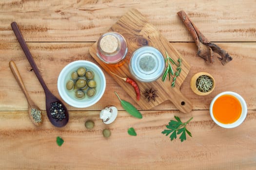
[[[196,86],[196,82],[197,82],[197,78],[201,75],[206,75],[208,77],[210,77],[212,80],[213,80],[213,88],[208,91],[208,92],[201,92],[197,89],[197,86]],[[192,78],[191,78],[191,81],[190,81],[190,85],[191,85],[191,89],[194,91],[194,93],[196,93],[197,95],[199,96],[205,96],[205,95],[208,95],[210,94],[214,88],[215,88],[215,80],[213,78],[213,76],[211,76],[209,73],[207,72],[198,72],[197,74],[195,74]]]

